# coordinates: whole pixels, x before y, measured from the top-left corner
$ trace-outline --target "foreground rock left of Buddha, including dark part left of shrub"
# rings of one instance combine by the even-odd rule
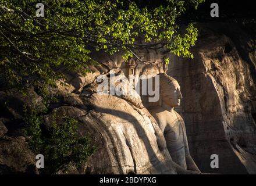
[[[52,116],[56,122],[65,117],[78,121],[79,135],[88,136],[97,147],[96,152],[82,167],[70,167],[65,173],[74,174],[192,174],[193,171],[180,169],[170,158],[166,142],[154,117],[144,108],[140,95],[131,88],[129,81],[118,68],[105,73],[96,71],[87,77],[70,75],[58,84],[58,102],[49,105],[45,115],[45,129],[50,130]],[[115,77],[123,95],[100,95],[97,87],[99,74],[109,73]],[[74,85],[74,79],[83,83]],[[71,80],[71,81],[70,81]],[[130,88],[127,88],[129,87]],[[107,89],[106,92],[109,92]],[[41,97],[31,90],[29,98],[17,94],[2,99],[0,136],[0,172],[1,173],[38,173],[35,168],[35,154],[27,146],[22,128],[24,123],[20,106],[40,105]],[[13,100],[16,104],[5,104]],[[17,104],[19,103],[19,104]],[[39,108],[39,107],[38,107]],[[55,114],[54,114],[55,113]],[[19,126],[19,127],[18,127]],[[61,171],[58,174],[63,174]]]

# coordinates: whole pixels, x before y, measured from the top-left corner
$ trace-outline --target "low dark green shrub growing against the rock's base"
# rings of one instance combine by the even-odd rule
[[[24,121],[30,149],[44,155],[45,168],[40,170],[43,174],[65,171],[72,165],[79,167],[95,151],[88,137],[77,136],[77,121],[72,118],[66,117],[64,123],[57,124],[54,115],[51,131],[42,130],[43,117],[35,111],[27,113]]]

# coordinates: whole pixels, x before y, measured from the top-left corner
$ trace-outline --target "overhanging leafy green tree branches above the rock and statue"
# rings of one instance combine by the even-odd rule
[[[38,0],[0,0],[1,83],[54,85],[64,69],[90,70],[94,49],[122,52],[126,60],[143,48],[193,58],[197,29],[189,24],[180,34],[178,21],[203,1],[42,0],[45,17],[37,17]]]

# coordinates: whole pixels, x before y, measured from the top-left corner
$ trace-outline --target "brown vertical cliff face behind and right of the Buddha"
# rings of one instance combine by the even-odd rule
[[[172,57],[168,74],[183,94],[180,112],[201,171],[256,173],[255,46],[248,28],[200,24],[194,59]],[[251,30],[249,30],[251,31]],[[211,169],[210,156],[219,156]]]

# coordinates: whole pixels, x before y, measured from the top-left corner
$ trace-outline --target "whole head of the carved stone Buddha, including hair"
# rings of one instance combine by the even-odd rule
[[[166,73],[160,73],[159,80],[159,91],[162,102],[172,108],[179,106],[182,99],[179,83],[175,78],[168,76]]]

